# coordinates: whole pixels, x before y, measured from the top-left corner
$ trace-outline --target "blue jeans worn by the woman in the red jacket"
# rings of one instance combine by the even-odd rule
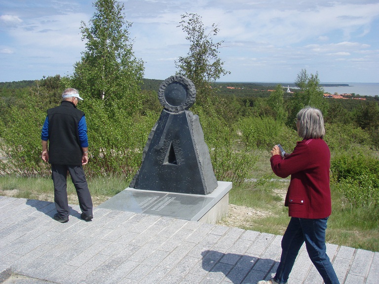
[[[296,256],[304,242],[309,258],[325,284],[340,283],[326,254],[325,231],[327,221],[328,217],[323,219],[291,217],[282,239],[282,255],[274,277],[277,283],[287,283]]]

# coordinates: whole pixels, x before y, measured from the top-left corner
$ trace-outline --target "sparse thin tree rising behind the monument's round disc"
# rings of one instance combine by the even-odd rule
[[[175,61],[175,66],[179,69],[177,73],[193,82],[197,92],[197,103],[205,103],[206,97],[212,92],[210,82],[230,73],[223,68],[224,62],[219,57],[219,48],[224,41],[214,43],[212,36],[218,34],[219,28],[213,24],[211,31],[207,32],[201,16],[197,14],[183,14],[178,27],[182,27],[187,34],[186,39],[189,40],[190,47],[186,57],[180,56],[178,61]]]

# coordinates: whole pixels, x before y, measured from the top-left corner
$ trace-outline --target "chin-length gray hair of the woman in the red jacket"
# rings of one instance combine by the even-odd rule
[[[301,138],[324,138],[324,118],[322,117],[321,110],[307,106],[298,112],[297,118],[300,122],[298,133]]]

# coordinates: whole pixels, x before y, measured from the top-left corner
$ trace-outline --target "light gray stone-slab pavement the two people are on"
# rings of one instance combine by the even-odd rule
[[[0,196],[0,283],[254,284],[278,265],[281,236],[102,208],[86,222],[71,207],[59,223],[54,203]],[[327,250],[341,284],[379,283],[379,252]],[[321,283],[302,248],[289,284]]]

